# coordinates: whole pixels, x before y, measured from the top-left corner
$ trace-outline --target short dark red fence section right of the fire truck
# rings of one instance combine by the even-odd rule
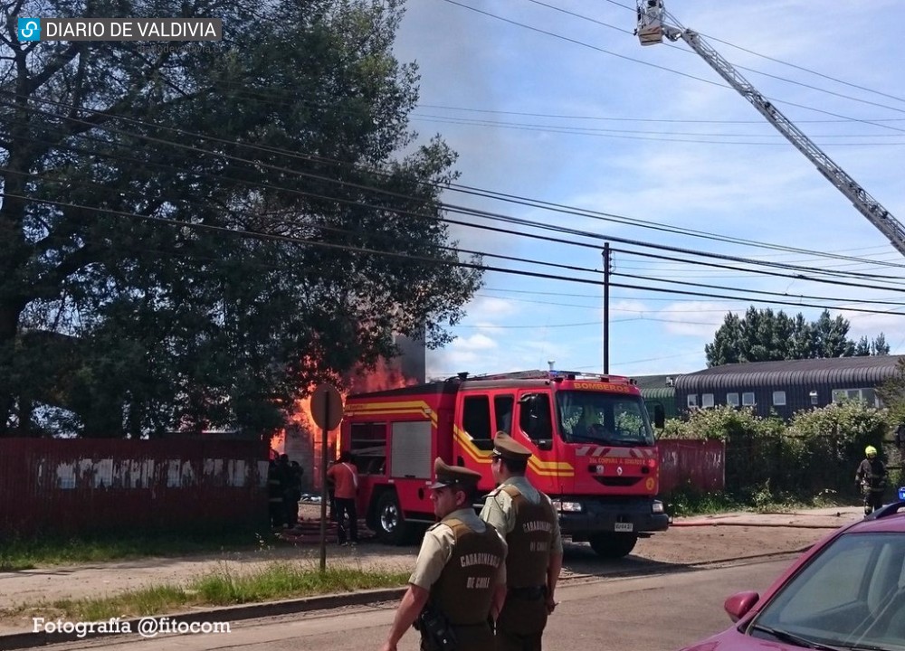
[[[690,486],[702,492],[726,486],[726,445],[717,440],[660,439],[660,492]]]

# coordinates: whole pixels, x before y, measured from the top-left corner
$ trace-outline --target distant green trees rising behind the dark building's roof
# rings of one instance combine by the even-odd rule
[[[890,346],[881,333],[857,344],[848,338],[849,322],[830,317],[828,310],[811,323],[800,312],[794,318],[780,310],[748,307],[745,316],[731,312],[719,326],[713,342],[704,346],[708,366],[739,362],[883,355]]]

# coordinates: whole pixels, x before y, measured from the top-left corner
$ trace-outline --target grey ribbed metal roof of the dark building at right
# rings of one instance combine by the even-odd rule
[[[676,378],[676,390],[696,392],[702,387],[733,388],[774,385],[835,384],[838,388],[872,386],[896,373],[905,355],[780,360],[713,366]]]

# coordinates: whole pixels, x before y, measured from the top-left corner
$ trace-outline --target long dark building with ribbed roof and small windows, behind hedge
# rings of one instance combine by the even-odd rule
[[[675,381],[680,410],[719,405],[771,410],[790,419],[796,411],[825,407],[843,398],[881,405],[876,388],[897,372],[905,355],[749,362],[685,373]]]

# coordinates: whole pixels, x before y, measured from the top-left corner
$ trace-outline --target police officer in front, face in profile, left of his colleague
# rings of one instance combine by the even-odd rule
[[[395,651],[425,606],[448,620],[458,651],[493,651],[489,619],[506,595],[506,542],[472,508],[479,473],[448,466],[440,458],[433,471],[437,480],[430,486],[431,500],[440,522],[424,534],[408,590],[381,651]],[[421,648],[434,651],[425,628],[419,621]]]

